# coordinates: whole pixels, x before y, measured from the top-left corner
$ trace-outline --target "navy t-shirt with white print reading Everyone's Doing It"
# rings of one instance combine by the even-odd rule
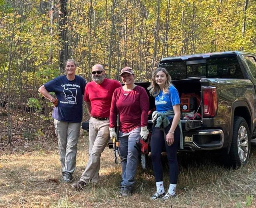
[[[45,83],[46,90],[54,92],[58,99],[58,106],[53,109],[52,118],[65,122],[81,122],[85,85],[84,78],[77,75],[72,81],[64,75]]]

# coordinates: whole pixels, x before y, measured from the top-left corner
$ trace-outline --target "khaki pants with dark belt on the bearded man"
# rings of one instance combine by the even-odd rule
[[[109,120],[97,120],[91,118],[89,120],[89,160],[82,173],[80,181],[86,183],[99,181],[100,156],[105,149],[109,139]]]

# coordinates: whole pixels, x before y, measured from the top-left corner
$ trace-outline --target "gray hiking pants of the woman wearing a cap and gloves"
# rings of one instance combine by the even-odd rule
[[[132,191],[138,167],[139,152],[134,147],[136,139],[140,138],[140,128],[129,133],[119,133],[119,156],[122,161],[122,182],[124,190]]]

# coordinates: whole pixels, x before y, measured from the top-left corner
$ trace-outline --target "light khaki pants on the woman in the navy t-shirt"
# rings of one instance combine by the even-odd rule
[[[72,174],[76,167],[77,141],[81,123],[58,121],[54,119],[55,133],[58,137],[62,175]]]

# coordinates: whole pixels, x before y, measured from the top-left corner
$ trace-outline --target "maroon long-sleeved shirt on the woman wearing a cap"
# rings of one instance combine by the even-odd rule
[[[120,114],[120,131],[124,133],[147,126],[148,109],[148,94],[143,87],[137,85],[131,91],[124,91],[119,87],[112,97],[109,126],[115,127],[117,113]]]

